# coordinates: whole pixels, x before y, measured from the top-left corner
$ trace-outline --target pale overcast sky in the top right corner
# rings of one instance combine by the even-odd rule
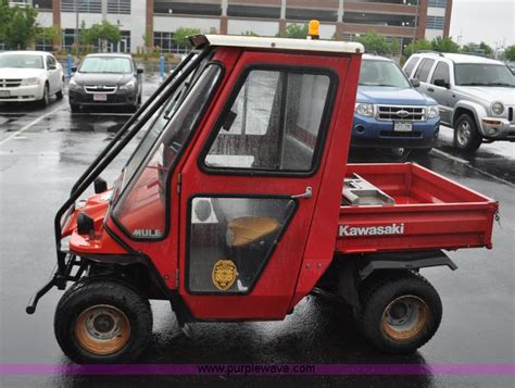
[[[451,36],[461,43],[515,45],[515,0],[454,0]]]

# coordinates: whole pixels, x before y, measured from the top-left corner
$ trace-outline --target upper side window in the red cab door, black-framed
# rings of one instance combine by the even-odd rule
[[[330,78],[289,68],[250,71],[215,128],[205,167],[312,172],[332,100]]]

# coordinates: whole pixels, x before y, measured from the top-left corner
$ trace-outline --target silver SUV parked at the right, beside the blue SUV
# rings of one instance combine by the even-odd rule
[[[419,52],[404,73],[435,99],[454,147],[474,152],[481,142],[515,141],[515,76],[502,62],[469,54]]]

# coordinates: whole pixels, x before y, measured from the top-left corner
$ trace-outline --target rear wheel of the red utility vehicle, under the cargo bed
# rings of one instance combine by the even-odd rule
[[[437,331],[440,297],[422,276],[381,279],[363,290],[356,324],[364,336],[387,353],[411,353]]]

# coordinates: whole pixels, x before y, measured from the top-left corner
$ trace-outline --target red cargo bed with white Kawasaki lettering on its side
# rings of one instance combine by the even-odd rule
[[[498,203],[413,163],[348,164],[336,251],[491,248]]]

